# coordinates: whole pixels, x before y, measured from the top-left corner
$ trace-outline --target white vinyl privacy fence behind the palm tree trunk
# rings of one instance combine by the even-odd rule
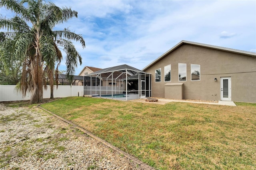
[[[31,94],[27,93],[23,98],[20,91],[16,91],[15,85],[0,85],[0,101],[18,101],[29,100]],[[53,96],[55,97],[72,97],[83,96],[84,86],[70,86],[70,85],[56,85],[54,86]],[[47,90],[44,90],[43,98],[50,98],[51,91],[50,86],[47,86]]]

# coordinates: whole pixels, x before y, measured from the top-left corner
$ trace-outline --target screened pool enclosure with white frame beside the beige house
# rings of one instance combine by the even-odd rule
[[[143,99],[151,96],[151,74],[118,65],[84,76],[84,95],[120,100]]]

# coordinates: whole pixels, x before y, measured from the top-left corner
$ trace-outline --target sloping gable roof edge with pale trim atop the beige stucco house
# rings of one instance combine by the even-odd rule
[[[242,50],[238,50],[238,49],[231,49],[231,48],[226,48],[226,47],[219,47],[219,46],[215,46],[215,45],[208,45],[208,44],[204,44],[204,43],[189,42],[189,41],[182,40],[181,42],[179,42],[174,47],[172,47],[171,49],[166,51],[163,55],[161,55],[160,57],[155,59],[152,63],[147,65],[142,70],[148,69],[148,67],[152,66],[154,63],[156,63],[157,61],[162,59],[164,56],[168,55],[169,53],[171,53],[172,51],[174,51],[176,48],[180,47],[183,44],[196,45],[196,46],[200,46],[200,47],[207,47],[207,48],[211,48],[211,49],[218,49],[218,50],[221,50],[221,51],[228,51],[228,52],[232,52],[232,53],[238,53],[238,54],[248,55],[248,56],[251,56],[251,57],[256,57],[256,53],[253,53],[253,52],[242,51]]]

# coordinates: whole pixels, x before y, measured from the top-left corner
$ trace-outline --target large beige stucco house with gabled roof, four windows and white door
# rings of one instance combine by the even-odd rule
[[[143,71],[152,97],[256,103],[256,53],[181,41]]]

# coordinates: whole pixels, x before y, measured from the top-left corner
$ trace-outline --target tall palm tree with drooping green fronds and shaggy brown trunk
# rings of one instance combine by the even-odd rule
[[[77,17],[71,8],[59,8],[43,0],[0,0],[0,7],[16,13],[13,18],[0,18],[0,28],[6,29],[5,40],[0,45],[1,61],[10,57],[22,61],[22,76],[19,88],[23,95],[32,92],[30,103],[42,102],[45,76],[50,79],[51,97],[53,97],[54,69],[58,75],[58,66],[62,60],[59,47],[66,52],[66,73],[72,79],[78,60],[82,57],[76,51],[72,40],[85,47],[81,35],[68,29],[53,31],[56,24],[62,24],[70,18]],[[2,35],[1,33],[0,35]],[[45,68],[44,68],[45,67]],[[58,76],[56,76],[58,80]]]

